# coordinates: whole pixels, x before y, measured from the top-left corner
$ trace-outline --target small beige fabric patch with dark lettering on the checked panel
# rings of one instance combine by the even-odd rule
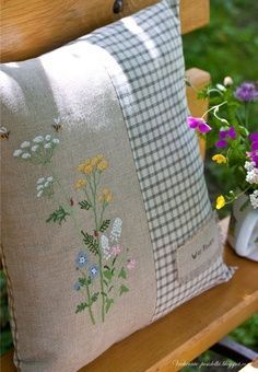
[[[194,279],[204,271],[221,253],[221,235],[214,218],[203,225],[190,241],[176,253],[179,282]]]

